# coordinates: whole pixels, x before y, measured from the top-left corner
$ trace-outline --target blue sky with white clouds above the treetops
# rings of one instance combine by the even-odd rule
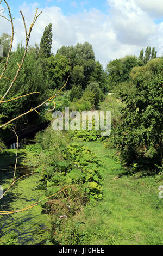
[[[40,43],[45,26],[52,23],[55,53],[62,45],[89,42],[96,59],[106,67],[109,60],[135,54],[147,46],[155,47],[163,55],[163,1],[162,0],[10,0],[15,17],[15,40],[24,39],[22,10],[27,26],[38,7],[42,14],[30,38],[30,45]],[[0,9],[5,4],[2,0]],[[7,13],[3,14],[7,15]],[[10,23],[0,17],[0,35],[11,33]]]

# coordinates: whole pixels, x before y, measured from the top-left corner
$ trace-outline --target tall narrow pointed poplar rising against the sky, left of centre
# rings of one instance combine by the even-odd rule
[[[49,23],[49,25],[45,27],[40,42],[40,56],[42,58],[49,58],[51,56],[52,36],[52,23]]]

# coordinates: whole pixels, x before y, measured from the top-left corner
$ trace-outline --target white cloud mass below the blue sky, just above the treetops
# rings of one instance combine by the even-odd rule
[[[45,26],[52,23],[54,53],[62,45],[76,45],[78,42],[88,41],[93,46],[96,59],[104,68],[109,60],[124,57],[126,54],[138,56],[141,48],[147,46],[155,46],[156,50],[159,50],[159,47],[162,47],[163,22],[156,25],[152,17],[137,2],[108,0],[111,7],[108,15],[94,8],[90,11],[84,9],[80,14],[65,16],[59,7],[46,7],[34,25],[29,44],[39,44]],[[36,3],[24,3],[21,10],[29,29],[35,15]],[[3,32],[11,32],[8,21],[0,17],[0,23],[3,24],[0,27],[0,35]],[[21,17],[14,20],[14,26],[16,47],[17,43],[24,39]]]

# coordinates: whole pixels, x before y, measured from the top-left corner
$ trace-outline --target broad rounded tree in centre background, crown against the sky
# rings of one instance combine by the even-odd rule
[[[72,76],[71,87],[81,85],[83,89],[91,82],[99,83],[100,88],[106,90],[106,76],[99,62],[95,61],[95,53],[88,42],[76,46],[62,46],[57,53],[71,60]],[[71,88],[70,87],[70,88]]]

